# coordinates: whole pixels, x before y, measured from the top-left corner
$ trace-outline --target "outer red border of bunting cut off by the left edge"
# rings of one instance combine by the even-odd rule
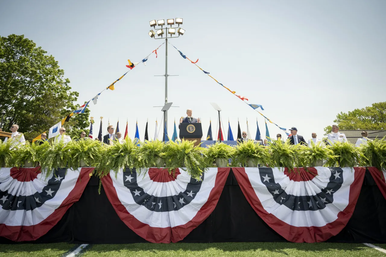
[[[73,203],[78,202],[88,181],[90,180],[89,174],[93,170],[94,168],[81,168],[79,178],[76,181],[73,190],[71,190],[61,205],[45,220],[32,226],[7,226],[5,224],[0,224],[0,236],[12,241],[21,242],[36,240],[42,235],[45,235],[52,227],[54,227],[54,225],[56,225],[56,223],[59,222],[68,208],[71,207]]]

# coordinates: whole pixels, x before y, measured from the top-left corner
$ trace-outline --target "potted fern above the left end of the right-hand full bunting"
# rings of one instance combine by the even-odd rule
[[[259,164],[265,166],[269,159],[268,149],[252,140],[237,144],[232,158],[233,166],[257,167]]]

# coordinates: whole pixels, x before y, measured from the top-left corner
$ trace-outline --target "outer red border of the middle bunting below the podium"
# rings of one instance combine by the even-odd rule
[[[196,213],[194,218],[186,224],[176,227],[150,227],[148,224],[140,222],[133,215],[131,215],[120,202],[110,175],[102,178],[102,184],[108,200],[113,205],[113,208],[115,212],[117,212],[119,218],[127,225],[127,227],[149,242],[168,244],[170,242],[176,243],[184,239],[194,228],[200,225],[210,215],[210,213],[213,212],[224,188],[229,171],[230,168],[218,168],[215,186],[212,191],[210,191],[207,202]]]

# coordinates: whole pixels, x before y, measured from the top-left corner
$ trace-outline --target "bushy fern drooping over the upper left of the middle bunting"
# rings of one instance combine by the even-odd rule
[[[137,145],[137,139],[133,141],[126,137],[122,143],[119,141],[113,141],[113,144],[107,146],[105,152],[105,164],[102,164],[98,170],[102,169],[105,172],[110,170],[115,171],[115,174],[118,173],[119,169],[124,169],[126,167],[137,168],[141,170],[144,168],[144,161],[142,158],[142,153],[139,151],[139,146]]]

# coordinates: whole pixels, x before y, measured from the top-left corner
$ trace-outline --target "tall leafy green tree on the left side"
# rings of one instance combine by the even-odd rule
[[[71,113],[79,96],[52,55],[24,35],[0,36],[0,109],[5,109],[3,131],[19,124],[32,139]],[[79,106],[79,105],[77,105]],[[90,124],[88,114],[75,114],[69,132]]]

